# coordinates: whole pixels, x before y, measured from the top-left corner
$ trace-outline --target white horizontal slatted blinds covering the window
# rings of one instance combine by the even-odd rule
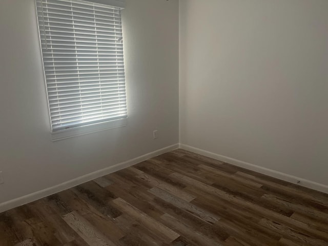
[[[52,131],[127,117],[121,9],[36,0]]]

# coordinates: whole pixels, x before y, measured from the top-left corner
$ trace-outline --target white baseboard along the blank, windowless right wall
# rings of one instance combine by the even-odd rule
[[[219,155],[219,154],[215,154],[206,150],[201,150],[189,145],[183,145],[183,144],[179,144],[179,148],[184,149],[184,150],[188,150],[191,152],[194,152],[196,154],[200,154],[200,155],[204,155],[216,160],[221,160],[224,162],[228,162],[232,165],[235,165],[237,167],[241,167],[241,168],[245,168],[254,172],[258,172],[258,173],[262,173],[274,178],[278,178],[284,181],[288,181],[291,183],[296,183],[299,186],[303,186],[306,188],[310,188],[316,191],[321,191],[324,193],[328,194],[328,186],[323,185],[321,183],[317,183],[311,180],[307,180],[307,179],[303,179],[303,178],[299,178],[299,177],[295,177],[293,175],[289,175],[286,173],[281,173],[272,169],[268,169],[268,168],[263,168],[245,161],[241,161],[241,160],[237,160],[231,157],[227,157],[227,156],[223,156],[223,155]]]

